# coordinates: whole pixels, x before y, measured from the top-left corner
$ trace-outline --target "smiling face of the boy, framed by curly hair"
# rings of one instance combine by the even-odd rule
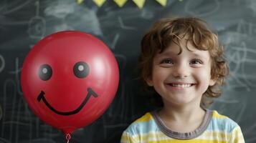
[[[200,104],[202,94],[215,84],[211,79],[209,51],[196,49],[189,41],[186,44],[186,39],[179,43],[180,54],[180,47],[174,42],[156,54],[147,84],[154,87],[165,104]]]

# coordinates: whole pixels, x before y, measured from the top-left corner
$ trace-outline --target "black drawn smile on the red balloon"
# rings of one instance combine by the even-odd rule
[[[93,89],[91,88],[87,88],[87,95],[84,99],[84,101],[82,102],[82,104],[80,104],[80,107],[78,107],[77,109],[75,109],[74,111],[72,112],[59,112],[57,111],[56,109],[54,109],[48,102],[47,100],[44,98],[44,92],[41,91],[41,93],[39,94],[39,96],[37,97],[37,100],[38,102],[41,101],[41,99],[43,100],[44,104],[46,104],[46,106],[51,109],[54,113],[56,114],[60,114],[60,115],[64,115],[64,116],[67,116],[67,115],[71,115],[71,114],[77,114],[78,112],[80,112],[80,110],[82,109],[82,107],[85,106],[85,104],[88,102],[88,100],[90,99],[90,96],[93,95],[93,97],[98,97],[98,94],[96,94],[95,92],[93,92]]]

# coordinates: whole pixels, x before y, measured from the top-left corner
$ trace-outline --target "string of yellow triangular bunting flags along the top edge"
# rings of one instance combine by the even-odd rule
[[[84,0],[76,0],[77,1],[77,4],[82,4],[82,2]],[[93,0],[93,2],[98,6],[103,6],[103,4],[105,3],[105,1],[107,0]],[[123,5],[125,5],[125,3],[128,1],[128,0],[109,0],[109,1],[114,1],[115,4],[117,4],[119,7],[123,7]],[[132,0],[134,4],[136,4],[136,6],[138,6],[139,9],[142,9],[146,0]],[[166,6],[167,4],[167,1],[168,0],[155,0],[158,2],[158,4],[161,4],[161,6]],[[179,1],[183,1],[183,0],[179,0]]]

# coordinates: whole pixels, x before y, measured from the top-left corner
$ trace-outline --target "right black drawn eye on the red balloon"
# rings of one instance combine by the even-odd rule
[[[75,64],[73,72],[75,77],[80,79],[85,78],[89,74],[89,66],[84,61],[79,61]]]

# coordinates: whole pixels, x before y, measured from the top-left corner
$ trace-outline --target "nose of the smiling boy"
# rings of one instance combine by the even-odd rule
[[[189,66],[186,64],[176,64],[174,66],[173,76],[176,78],[185,78],[189,76]]]

